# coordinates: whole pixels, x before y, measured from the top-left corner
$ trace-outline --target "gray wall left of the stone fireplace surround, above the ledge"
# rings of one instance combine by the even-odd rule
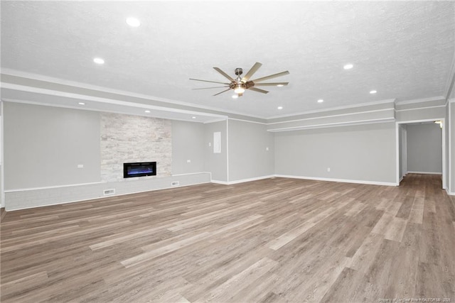
[[[100,114],[4,102],[4,174],[5,190],[100,182]]]

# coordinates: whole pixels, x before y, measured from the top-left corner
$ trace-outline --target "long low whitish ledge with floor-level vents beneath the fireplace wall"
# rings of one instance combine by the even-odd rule
[[[100,182],[63,187],[10,190],[5,192],[5,210],[31,209],[203,183],[210,183],[210,173],[200,172],[198,174],[154,177],[151,179],[140,179],[138,177],[137,180],[122,182]],[[105,190],[111,189],[114,189],[114,194],[104,194]]]

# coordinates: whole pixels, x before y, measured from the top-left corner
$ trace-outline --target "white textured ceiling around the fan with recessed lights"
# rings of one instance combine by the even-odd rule
[[[270,118],[445,97],[454,16],[453,1],[1,1],[1,67]],[[271,80],[289,86],[235,100],[188,79],[255,62],[253,79],[289,70]]]

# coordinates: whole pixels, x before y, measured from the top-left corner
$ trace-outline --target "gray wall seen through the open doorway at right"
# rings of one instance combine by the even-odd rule
[[[407,171],[442,173],[441,128],[435,123],[407,125]]]

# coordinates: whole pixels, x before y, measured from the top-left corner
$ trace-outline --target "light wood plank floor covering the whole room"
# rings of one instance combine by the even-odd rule
[[[439,176],[203,184],[1,222],[1,302],[395,298],[455,302],[455,204]]]

